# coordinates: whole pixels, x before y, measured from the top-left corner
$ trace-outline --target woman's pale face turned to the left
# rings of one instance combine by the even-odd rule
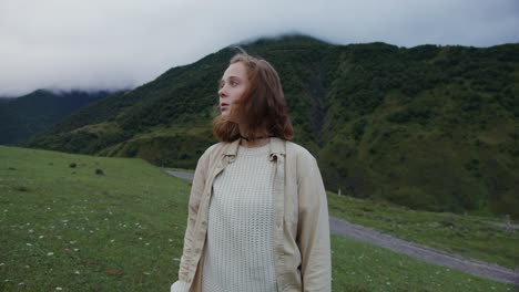
[[[232,106],[242,98],[248,85],[247,70],[242,62],[233,63],[225,70],[218,91],[222,116],[228,116]]]

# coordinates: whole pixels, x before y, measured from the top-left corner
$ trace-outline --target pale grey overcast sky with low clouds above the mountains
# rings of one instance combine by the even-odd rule
[[[298,32],[400,46],[519,42],[518,0],[0,0],[0,96],[116,90],[224,46]]]

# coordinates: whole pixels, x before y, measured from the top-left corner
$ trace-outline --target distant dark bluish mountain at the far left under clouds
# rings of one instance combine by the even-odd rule
[[[41,134],[78,108],[108,95],[108,92],[38,90],[17,98],[0,98],[0,144],[16,144]]]

